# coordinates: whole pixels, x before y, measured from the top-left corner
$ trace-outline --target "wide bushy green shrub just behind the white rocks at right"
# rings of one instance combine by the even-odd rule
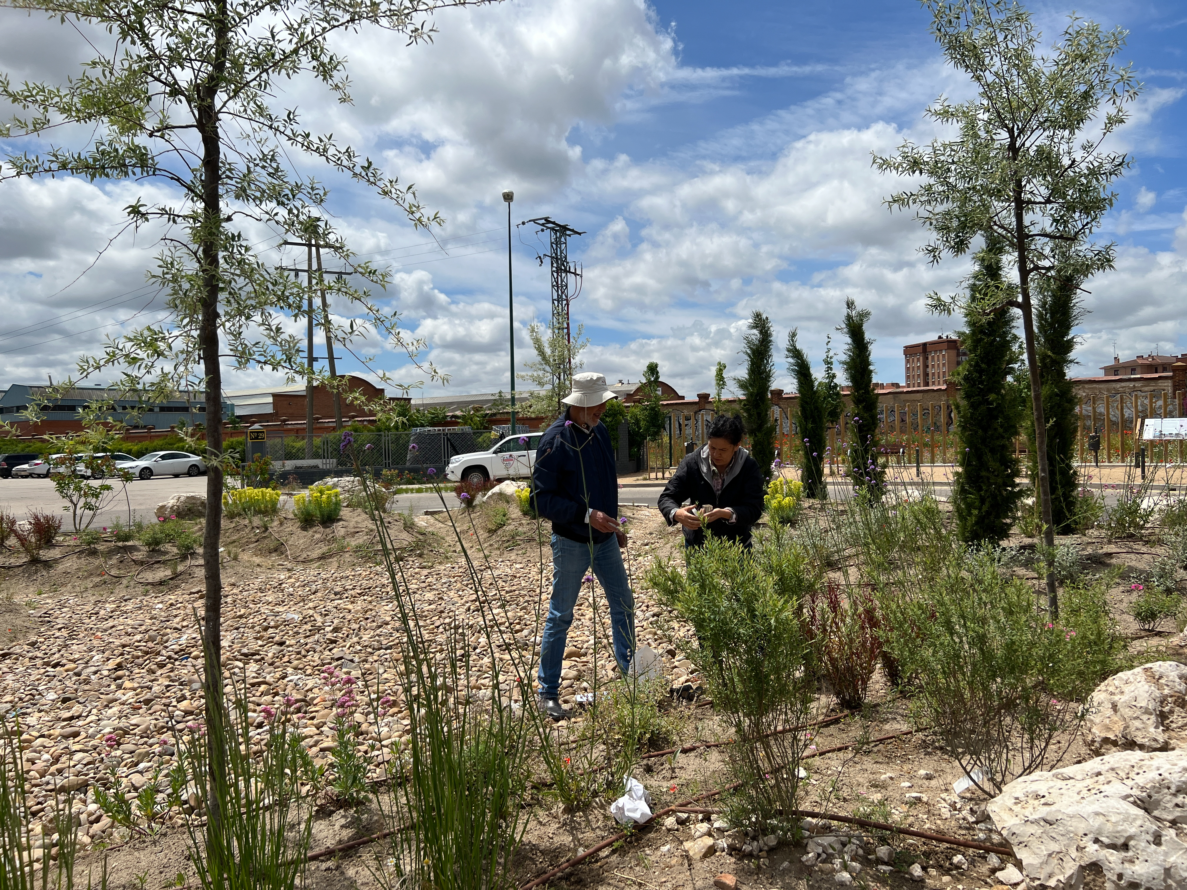
[[[920,717],[966,773],[982,770],[986,793],[1058,761],[1086,716],[1080,703],[1124,665],[1104,598],[1111,581],[1068,585],[1056,624],[1029,585],[1003,577],[983,551],[958,548],[887,616]]]

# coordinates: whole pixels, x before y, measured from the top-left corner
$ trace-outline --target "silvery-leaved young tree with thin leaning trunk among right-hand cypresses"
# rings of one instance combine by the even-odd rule
[[[890,208],[914,209],[933,240],[931,262],[963,255],[982,236],[1001,240],[1003,259],[1017,276],[1015,297],[1002,298],[1022,316],[1030,374],[1037,453],[1039,500],[1047,553],[1047,604],[1059,616],[1054,521],[1047,466],[1033,293],[1040,279],[1060,271],[1075,280],[1112,268],[1115,246],[1090,240],[1117,198],[1111,184],[1130,160],[1104,151],[1103,140],[1126,120],[1140,84],[1113,57],[1124,32],[1103,32],[1073,18],[1043,52],[1030,14],[1011,0],[923,0],[932,34],[953,68],[966,72],[976,97],[940,97],[927,116],[957,132],[927,146],[906,142],[893,157],[875,157],[890,173],[919,177],[921,185],[893,195]],[[959,300],[932,294],[932,306],[951,312]],[[983,307],[985,310],[992,306]]]

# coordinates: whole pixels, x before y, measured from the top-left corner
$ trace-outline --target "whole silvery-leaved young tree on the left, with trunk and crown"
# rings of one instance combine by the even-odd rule
[[[481,1],[481,0],[478,0]],[[83,23],[103,34],[96,56],[63,85],[14,84],[0,75],[0,98],[18,115],[0,125],[0,138],[25,136],[32,151],[6,155],[0,183],[13,178],[80,177],[91,182],[154,182],[148,197],[127,208],[127,225],[158,234],[160,253],[147,272],[170,310],[169,318],[109,339],[101,355],[80,362],[82,377],[119,375],[119,388],[163,401],[177,390],[204,390],[207,521],[202,539],[205,602],[202,616],[203,692],[208,727],[210,794],[208,847],[211,867],[234,853],[221,835],[218,801],[226,800],[222,727],[222,578],[218,549],[226,456],[221,422],[224,362],[305,375],[301,338],[286,333],[284,316],[307,320],[306,290],[253,249],[248,230],[264,224],[317,243],[363,279],[385,275],[354,263],[328,221],[328,191],[294,172],[293,160],[316,160],[391,202],[417,227],[439,223],[411,187],[386,174],[332,135],[305,129],[296,107],[285,107],[285,82],[319,82],[349,103],[347,59],[331,40],[363,27],[392,31],[407,44],[431,38],[432,13],[470,0],[5,0],[45,12],[63,25]],[[72,33],[72,32],[71,32]],[[56,132],[89,134],[53,145]],[[12,145],[12,141],[9,141]],[[165,197],[160,197],[161,192]],[[164,234],[160,234],[160,233]],[[273,244],[275,243],[273,242]],[[334,339],[361,330],[401,339],[398,318],[375,305],[366,290],[328,286],[362,322],[341,325]],[[328,314],[328,313],[326,313]],[[329,329],[329,318],[320,322]],[[404,342],[414,349],[415,344]],[[331,382],[332,381],[328,381]],[[229,881],[229,871],[214,875]]]

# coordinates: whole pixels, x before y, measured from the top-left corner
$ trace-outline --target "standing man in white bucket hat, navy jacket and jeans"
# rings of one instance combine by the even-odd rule
[[[610,606],[614,657],[623,674],[635,648],[635,602],[622,565],[627,536],[618,528],[618,475],[610,434],[602,425],[615,399],[602,374],[575,374],[569,406],[537,449],[532,495],[537,513],[552,520],[552,599],[540,642],[540,710],[554,720],[560,704],[560,662],[582,584],[596,576]],[[586,572],[592,568],[592,576]]]

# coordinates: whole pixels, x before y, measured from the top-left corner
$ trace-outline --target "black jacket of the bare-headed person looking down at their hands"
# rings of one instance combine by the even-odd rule
[[[750,543],[750,527],[762,516],[762,498],[767,492],[758,462],[745,449],[738,449],[734,465],[725,476],[725,484],[722,485],[722,494],[713,492],[711,479],[709,446],[705,445],[685,457],[665,485],[664,494],[660,495],[660,513],[664,519],[671,526],[672,514],[686,502],[730,507],[734,509],[734,522],[716,520],[709,525],[710,530],[721,538]],[[705,533],[702,529],[684,529],[684,542],[688,547],[698,547],[704,540]]]

